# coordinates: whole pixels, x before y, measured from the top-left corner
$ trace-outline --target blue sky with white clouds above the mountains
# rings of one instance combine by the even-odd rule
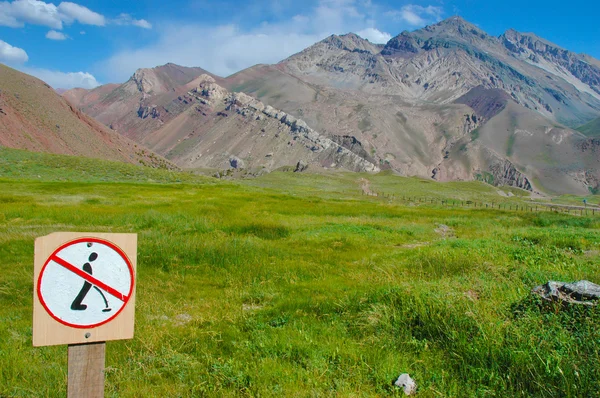
[[[55,88],[122,83],[173,62],[228,76],[331,34],[385,43],[460,15],[600,59],[598,0],[0,0],[0,63]]]

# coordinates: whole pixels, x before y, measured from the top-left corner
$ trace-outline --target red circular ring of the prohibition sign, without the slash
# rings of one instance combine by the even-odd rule
[[[41,290],[42,278],[44,277],[44,271],[46,270],[46,266],[48,265],[48,263],[50,263],[50,261],[52,261],[52,258],[54,256],[56,256],[56,254],[58,254],[58,252],[60,252],[61,250],[63,250],[64,248],[66,248],[68,246],[72,246],[77,243],[100,243],[102,245],[108,246],[112,250],[116,251],[123,260],[125,260],[125,263],[127,264],[127,268],[129,270],[129,276],[130,276],[129,286],[130,287],[129,287],[129,292],[127,293],[127,297],[123,301],[123,306],[121,306],[119,311],[117,311],[115,314],[113,314],[110,318],[108,318],[102,322],[92,324],[92,325],[76,325],[76,324],[69,323],[63,319],[60,319],[59,317],[54,315],[52,313],[52,311],[50,311],[50,308],[48,308],[48,305],[46,304],[46,302],[44,301],[44,297],[42,296],[42,290]],[[123,250],[121,250],[121,248],[119,248],[117,245],[115,245],[112,242],[109,242],[107,240],[100,239],[100,238],[79,238],[79,239],[75,239],[75,240],[65,243],[64,245],[62,245],[58,249],[56,249],[54,252],[52,252],[52,254],[48,257],[48,259],[44,263],[42,270],[40,271],[40,276],[38,277],[38,283],[37,283],[36,289],[37,289],[37,295],[38,295],[38,299],[40,300],[40,303],[42,304],[42,306],[44,307],[44,309],[46,310],[48,315],[50,315],[55,321],[62,323],[65,326],[72,327],[72,328],[92,329],[92,328],[102,326],[102,325],[112,321],[121,313],[121,311],[123,311],[123,309],[125,309],[125,307],[127,306],[127,303],[129,302],[129,299],[131,299],[131,294],[133,293],[134,283],[135,283],[135,277],[134,277],[134,273],[133,273],[133,266],[131,265],[131,261],[129,261],[129,257],[127,257],[127,255],[125,254],[125,252],[123,252]]]

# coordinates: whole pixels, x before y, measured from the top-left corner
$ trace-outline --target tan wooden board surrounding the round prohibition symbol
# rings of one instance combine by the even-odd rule
[[[96,327],[71,327],[54,319],[38,297],[38,281],[44,264],[61,246],[81,239],[101,239],[110,242],[127,256],[133,268],[132,290],[117,316]],[[33,277],[33,345],[83,344],[133,338],[137,266],[137,234],[55,232],[35,240]],[[82,279],[83,280],[83,279]]]

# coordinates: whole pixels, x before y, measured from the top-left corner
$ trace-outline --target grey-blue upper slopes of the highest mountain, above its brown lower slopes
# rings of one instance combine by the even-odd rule
[[[600,68],[534,35],[489,36],[460,17],[402,32],[383,48],[355,35],[330,37],[282,61],[315,84],[448,103],[482,86],[576,127],[600,113]],[[587,61],[586,61],[587,59]]]

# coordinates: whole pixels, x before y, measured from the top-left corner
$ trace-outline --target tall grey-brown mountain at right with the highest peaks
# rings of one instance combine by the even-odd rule
[[[377,163],[401,174],[587,193],[593,183],[573,177],[591,164],[577,152],[584,137],[563,124],[600,114],[594,80],[579,80],[558,61],[550,69],[524,59],[507,37],[459,17],[403,32],[383,48],[333,36],[236,81],[330,136],[357,137]]]

